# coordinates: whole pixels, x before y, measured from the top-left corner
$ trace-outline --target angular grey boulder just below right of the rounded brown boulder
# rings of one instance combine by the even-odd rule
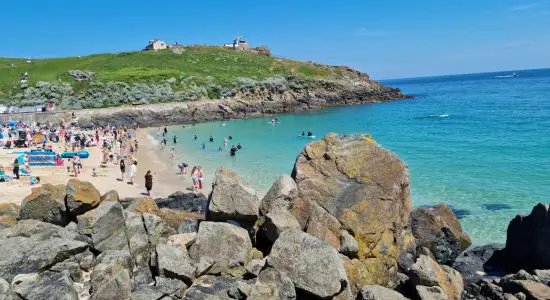
[[[124,214],[118,202],[102,202],[97,208],[79,215],[78,229],[92,237],[98,251],[128,250]]]

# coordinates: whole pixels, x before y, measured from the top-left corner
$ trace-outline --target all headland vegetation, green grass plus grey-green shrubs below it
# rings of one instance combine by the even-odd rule
[[[93,72],[77,80],[71,70]],[[28,85],[21,88],[21,76]],[[230,98],[259,88],[308,88],[326,82],[368,81],[347,67],[259,56],[220,47],[182,47],[149,52],[32,60],[0,58],[0,103],[29,106],[54,100],[64,108]],[[321,84],[322,83],[322,84]],[[373,83],[383,89],[378,83]]]

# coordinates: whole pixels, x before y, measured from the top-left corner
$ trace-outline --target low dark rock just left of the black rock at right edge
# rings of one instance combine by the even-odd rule
[[[493,253],[504,247],[490,244],[475,247],[462,252],[453,263],[453,268],[462,274],[464,284],[475,283],[485,276],[502,275],[496,267],[487,264]]]

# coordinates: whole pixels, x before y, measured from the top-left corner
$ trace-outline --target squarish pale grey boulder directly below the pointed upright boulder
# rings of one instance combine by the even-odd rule
[[[219,274],[244,265],[251,249],[252,242],[245,229],[229,223],[201,222],[190,254],[196,262],[204,257],[214,260],[208,273]]]

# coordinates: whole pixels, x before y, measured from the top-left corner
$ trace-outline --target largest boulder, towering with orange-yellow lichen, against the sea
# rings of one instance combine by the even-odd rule
[[[336,249],[342,230],[357,241],[358,258],[346,263],[355,290],[395,285],[397,259],[414,241],[407,166],[368,135],[329,134],[306,146],[292,177],[303,229]]]

